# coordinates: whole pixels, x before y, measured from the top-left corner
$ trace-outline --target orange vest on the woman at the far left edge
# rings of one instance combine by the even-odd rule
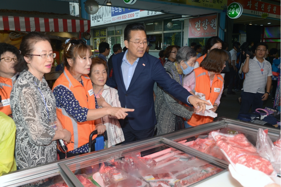
[[[13,81],[10,78],[0,77],[0,95],[2,101],[0,101],[0,112],[6,115],[12,114],[10,106],[10,95],[13,88]]]

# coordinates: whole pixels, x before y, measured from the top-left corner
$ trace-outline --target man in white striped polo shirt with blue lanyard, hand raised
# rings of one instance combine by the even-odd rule
[[[272,71],[271,64],[264,59],[267,49],[267,44],[260,42],[256,45],[256,56],[253,59],[250,59],[250,56],[246,54],[246,60],[242,67],[242,71],[245,73],[245,81],[239,114],[247,113],[251,105],[251,112],[254,112],[257,108],[261,108],[263,101],[268,98]]]

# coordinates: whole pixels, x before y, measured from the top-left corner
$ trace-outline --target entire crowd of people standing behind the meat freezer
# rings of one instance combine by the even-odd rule
[[[108,43],[100,43],[99,57],[92,58],[84,40],[68,39],[62,46],[64,69],[52,90],[44,78],[56,57],[48,36],[30,32],[19,50],[1,43],[0,149],[9,150],[1,152],[5,159],[0,159],[0,175],[87,153],[94,130],[97,135],[106,131],[107,147],[112,147],[213,121],[200,114],[206,105],[217,110],[227,86],[232,94],[240,44],[229,53],[227,43],[211,37],[203,50],[196,43],[172,45],[160,51],[158,59],[148,54],[148,42],[143,25],[129,24],[123,52],[115,44],[107,62]],[[273,77],[270,62],[263,58],[267,49],[258,44],[253,59],[243,53],[246,78],[240,113],[249,111],[251,104],[259,107],[268,97],[264,88],[270,91]],[[276,53],[270,50],[272,66],[278,66],[278,60],[280,64]],[[276,97],[280,100],[280,92]],[[57,147],[57,140],[67,149]]]

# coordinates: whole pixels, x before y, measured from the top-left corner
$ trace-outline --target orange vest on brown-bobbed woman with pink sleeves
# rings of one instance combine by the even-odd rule
[[[205,99],[210,99],[211,103],[214,105],[223,86],[223,77],[220,74],[215,75],[212,86],[210,86],[210,77],[207,70],[199,67],[193,71],[195,73],[195,88],[193,91],[205,94]],[[214,118],[210,116],[192,114],[191,118],[188,120],[188,124],[191,126],[196,126],[209,123],[213,120]]]

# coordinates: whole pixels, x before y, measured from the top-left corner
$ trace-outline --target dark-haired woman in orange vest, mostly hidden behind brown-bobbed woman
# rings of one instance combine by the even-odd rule
[[[203,61],[203,59],[206,57],[207,53],[212,49],[221,49],[223,45],[223,41],[219,39],[218,36],[213,36],[208,39],[207,44],[204,46],[202,54],[203,56],[200,56],[197,58],[194,62],[194,69],[198,68],[200,66],[200,63]]]

